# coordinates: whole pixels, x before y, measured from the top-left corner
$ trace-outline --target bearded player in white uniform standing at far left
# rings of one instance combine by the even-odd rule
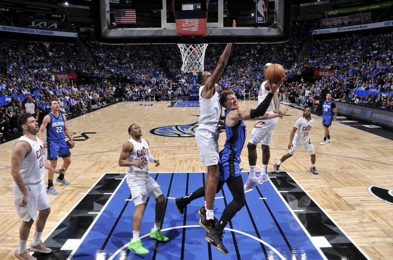
[[[55,169],[45,162],[44,145],[37,133],[38,123],[33,115],[22,114],[18,124],[23,130],[23,136],[18,139],[12,150],[11,174],[14,179],[13,191],[16,211],[22,220],[19,228],[19,247],[14,257],[23,260],[35,260],[28,254],[26,244],[31,226],[35,221],[35,233],[30,243],[30,251],[51,253],[41,241],[42,231],[51,213],[51,204],[45,191],[45,169],[64,174],[63,167]],[[38,211],[38,216],[37,216]]]

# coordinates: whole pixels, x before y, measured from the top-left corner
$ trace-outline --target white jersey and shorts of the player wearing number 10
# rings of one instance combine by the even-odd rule
[[[292,147],[289,150],[289,154],[293,155],[296,150],[302,146],[305,147],[306,151],[309,152],[310,155],[315,153],[314,145],[311,142],[311,128],[313,124],[314,119],[312,118],[310,118],[309,121],[303,117],[296,120],[294,127],[296,127],[298,130],[292,140]]]

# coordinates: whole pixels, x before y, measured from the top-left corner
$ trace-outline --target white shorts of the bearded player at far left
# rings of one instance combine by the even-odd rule
[[[14,183],[14,203],[16,212],[22,221],[35,220],[37,218],[37,211],[46,210],[51,207],[51,203],[46,193],[45,182],[41,181],[38,184],[25,184],[28,191],[28,204],[25,207],[19,207],[22,199],[22,192]]]

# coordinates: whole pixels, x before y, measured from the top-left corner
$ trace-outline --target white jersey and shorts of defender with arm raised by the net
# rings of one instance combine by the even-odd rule
[[[217,91],[212,98],[203,98],[201,93],[204,86],[199,88],[199,126],[195,132],[195,139],[200,152],[200,162],[206,166],[217,165],[219,163],[217,131],[218,122],[221,117],[222,108],[220,95]]]

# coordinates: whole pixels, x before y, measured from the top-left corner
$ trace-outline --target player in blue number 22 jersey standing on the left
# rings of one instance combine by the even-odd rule
[[[68,137],[71,143],[71,147],[74,147],[75,143],[72,140],[70,131],[67,128],[67,120],[61,112],[59,112],[59,103],[57,98],[53,98],[49,101],[52,111],[46,115],[40,126],[40,130],[37,134],[41,139],[44,147],[47,148],[47,159],[51,161],[52,167],[56,168],[57,158],[63,158],[62,167],[66,170],[71,164],[71,152],[68,149],[67,142],[65,142],[65,135]],[[44,142],[42,135],[46,129],[47,142]],[[48,170],[48,188],[47,193],[51,195],[58,195],[59,192],[53,187],[53,176],[54,172]],[[56,182],[62,185],[69,185],[70,183],[64,179],[64,174],[59,174],[56,178]]]

